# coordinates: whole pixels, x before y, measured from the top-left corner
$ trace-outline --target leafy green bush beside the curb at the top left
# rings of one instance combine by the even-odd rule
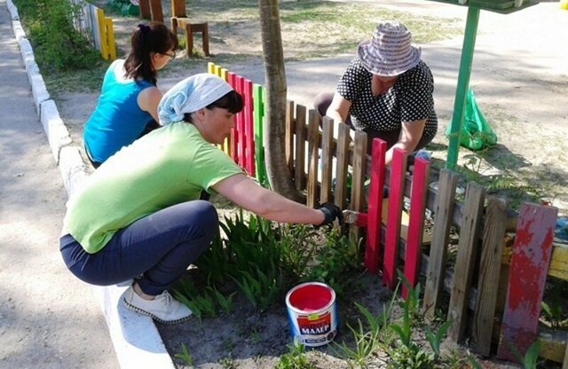
[[[73,26],[79,17],[78,5],[67,0],[17,0],[23,23],[43,71],[64,71],[97,66],[99,51],[91,47],[87,35]]]

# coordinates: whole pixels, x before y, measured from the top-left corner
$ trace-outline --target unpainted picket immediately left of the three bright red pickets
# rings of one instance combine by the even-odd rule
[[[365,173],[367,173],[367,134],[355,131],[355,149],[353,151],[353,178],[351,181],[351,210],[362,212],[365,208]],[[361,229],[351,225],[351,237],[359,242]]]

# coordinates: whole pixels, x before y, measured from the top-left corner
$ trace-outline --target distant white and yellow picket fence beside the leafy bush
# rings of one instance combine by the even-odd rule
[[[81,7],[81,12],[74,21],[75,28],[91,39],[92,46],[100,51],[104,59],[116,59],[113,20],[105,17],[105,12],[93,4],[83,0],[71,2]]]

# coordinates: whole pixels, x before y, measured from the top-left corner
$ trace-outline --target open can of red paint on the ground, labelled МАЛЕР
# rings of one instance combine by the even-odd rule
[[[337,334],[333,288],[319,282],[303,283],[288,292],[286,306],[295,342],[317,347],[333,341]]]

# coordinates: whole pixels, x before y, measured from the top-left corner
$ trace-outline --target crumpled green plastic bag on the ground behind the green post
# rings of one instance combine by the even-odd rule
[[[447,127],[446,137],[450,136],[452,122]],[[465,112],[463,114],[463,125],[460,130],[460,145],[469,150],[482,150],[485,147],[493,146],[497,143],[497,135],[491,129],[485,116],[477,106],[476,97],[473,90],[468,90],[465,101]]]

